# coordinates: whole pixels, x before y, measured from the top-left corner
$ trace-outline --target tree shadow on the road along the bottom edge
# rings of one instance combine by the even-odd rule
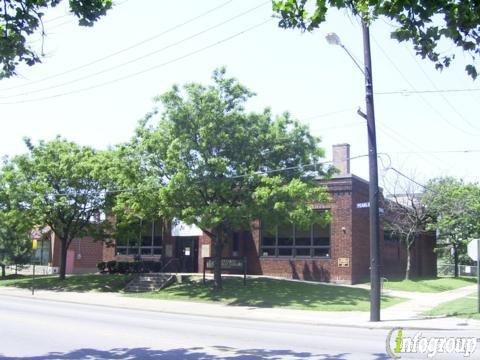
[[[291,350],[266,349],[234,349],[225,346],[216,346],[209,351],[202,347],[178,348],[171,350],[153,350],[150,348],[120,348],[111,350],[78,349],[71,352],[51,352],[45,355],[22,357],[27,360],[40,359],[184,359],[184,360],[213,360],[213,359],[346,359],[348,353],[312,354],[310,352],[295,352]],[[388,359],[386,354],[371,354],[374,360]],[[13,360],[18,357],[1,356],[0,359]]]

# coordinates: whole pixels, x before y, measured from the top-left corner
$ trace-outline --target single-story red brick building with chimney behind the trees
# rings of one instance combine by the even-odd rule
[[[246,257],[247,273],[294,279],[357,283],[369,276],[368,182],[350,173],[348,144],[333,147],[333,162],[339,173],[319,180],[326,186],[330,202],[316,204],[318,211],[330,211],[327,226],[308,229],[292,224],[267,230],[261,221],[252,221],[249,231],[233,233],[224,249],[225,257]],[[381,218],[382,220],[382,218]],[[381,224],[381,228],[382,228]],[[162,260],[175,263],[181,272],[202,272],[203,258],[212,256],[208,235],[194,226],[161,221],[139,221],[136,239],[117,241],[107,247],[91,238],[74,240],[69,248],[67,273],[95,270],[98,261]],[[58,266],[59,245],[51,246],[51,263]],[[412,250],[412,276],[435,276],[434,234],[424,235]],[[381,274],[402,276],[406,250],[395,236],[380,232]],[[69,265],[70,264],[70,265]]]

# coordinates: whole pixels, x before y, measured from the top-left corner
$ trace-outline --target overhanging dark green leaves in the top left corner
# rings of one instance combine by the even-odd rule
[[[35,33],[45,36],[45,11],[62,0],[2,0],[0,1],[0,79],[15,75],[19,63],[34,65],[41,61],[28,44]],[[70,11],[81,26],[92,26],[112,7],[112,0],[69,0]]]

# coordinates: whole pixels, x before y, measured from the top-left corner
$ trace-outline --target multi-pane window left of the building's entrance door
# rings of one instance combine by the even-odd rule
[[[162,222],[140,221],[132,224],[117,239],[119,255],[161,255]]]

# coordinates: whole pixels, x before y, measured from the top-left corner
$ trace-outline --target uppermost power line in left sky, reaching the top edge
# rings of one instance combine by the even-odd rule
[[[120,50],[118,50],[118,51],[115,51],[115,52],[113,52],[113,53],[111,53],[111,54],[102,56],[102,57],[100,57],[100,58],[98,58],[98,59],[96,59],[96,60],[93,60],[93,61],[91,61],[91,62],[88,62],[88,63],[86,63],[86,64],[82,64],[82,65],[79,65],[79,66],[70,68],[70,69],[65,70],[65,71],[63,71],[63,72],[60,72],[60,73],[58,73],[58,74],[54,74],[54,75],[50,75],[50,76],[47,76],[47,77],[44,77],[44,78],[41,78],[41,79],[38,79],[38,80],[30,81],[30,82],[27,83],[27,84],[21,84],[21,85],[11,86],[11,87],[9,87],[9,88],[4,88],[4,89],[1,89],[1,91],[18,89],[18,88],[22,88],[22,87],[25,87],[25,86],[30,86],[30,85],[32,85],[32,84],[38,84],[38,83],[41,83],[41,82],[44,82],[44,81],[47,81],[47,80],[51,80],[51,79],[57,78],[57,77],[59,77],[59,76],[63,76],[63,75],[65,75],[65,74],[69,74],[69,73],[74,72],[74,71],[77,71],[77,70],[80,70],[80,69],[89,67],[89,66],[91,66],[91,65],[97,64],[97,63],[102,62],[102,61],[104,61],[104,60],[110,59],[110,58],[112,58],[112,57],[114,57],[114,56],[120,55],[120,54],[122,54],[122,53],[124,53],[124,52],[127,52],[127,51],[132,50],[132,49],[135,49],[135,48],[137,48],[137,47],[139,47],[139,46],[141,46],[141,45],[144,45],[144,44],[146,44],[146,43],[148,43],[148,42],[150,42],[150,41],[153,41],[153,40],[155,40],[155,39],[158,39],[158,38],[160,38],[160,37],[162,37],[162,36],[164,36],[164,35],[172,32],[172,31],[177,30],[177,29],[179,29],[179,28],[181,28],[181,27],[183,27],[183,26],[185,26],[185,25],[188,25],[188,24],[190,24],[190,23],[192,23],[192,22],[194,22],[194,21],[196,21],[196,20],[198,20],[198,19],[201,19],[202,17],[207,16],[207,15],[209,15],[209,14],[211,14],[211,13],[213,13],[213,12],[215,12],[215,11],[223,8],[223,7],[225,7],[226,5],[228,5],[228,4],[231,3],[231,2],[232,2],[232,0],[228,0],[228,1],[226,1],[226,2],[224,2],[224,3],[222,3],[222,4],[220,4],[220,5],[212,8],[212,9],[209,9],[209,10],[207,10],[207,11],[205,11],[205,12],[199,14],[199,15],[196,15],[196,16],[194,16],[194,17],[192,17],[192,18],[190,18],[190,19],[188,19],[188,20],[186,20],[186,21],[184,21],[184,22],[182,22],[182,23],[180,23],[180,24],[174,25],[174,26],[172,26],[172,27],[170,27],[170,28],[168,28],[168,29],[166,29],[166,30],[158,33],[158,34],[155,34],[155,35],[153,35],[153,36],[150,36],[150,37],[148,37],[148,38],[146,38],[146,39],[144,39],[144,40],[142,40],[142,41],[139,41],[139,42],[137,42],[137,43],[135,43],[135,44],[132,44],[132,45],[126,47],[126,48],[123,48],[123,49],[120,49]],[[122,3],[122,4],[123,4],[123,3]],[[257,6],[257,7],[263,6],[263,5],[265,5],[265,4],[266,4],[266,3],[263,3],[262,5],[259,5],[259,6]],[[10,95],[10,96],[8,96],[8,97],[14,97],[14,96],[20,96],[20,95]]]

